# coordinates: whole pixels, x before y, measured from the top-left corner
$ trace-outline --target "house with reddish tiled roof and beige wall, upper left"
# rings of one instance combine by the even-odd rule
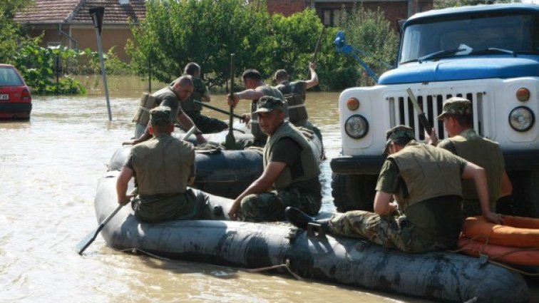
[[[145,0],[35,0],[34,6],[19,11],[14,20],[26,26],[31,36],[43,33],[43,47],[63,45],[97,51],[96,29],[88,10],[98,6],[105,8],[103,52],[116,46],[118,58],[130,61],[124,49],[128,38],[133,37],[129,22],[136,24],[145,18]]]

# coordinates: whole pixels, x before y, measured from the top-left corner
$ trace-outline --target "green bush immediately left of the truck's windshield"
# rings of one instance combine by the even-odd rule
[[[343,9],[337,26],[346,34],[346,43],[360,51],[356,54],[378,76],[393,65],[398,41],[383,11],[367,10],[361,5],[351,11]],[[356,66],[361,68],[358,63]]]

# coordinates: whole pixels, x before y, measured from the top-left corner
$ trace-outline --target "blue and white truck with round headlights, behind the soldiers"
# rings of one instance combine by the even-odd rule
[[[470,100],[473,128],[503,150],[515,213],[539,217],[539,5],[440,9],[404,23],[396,67],[376,86],[339,96],[342,152],[331,161],[338,211],[372,210],[386,130],[409,125],[425,140],[408,88],[440,139],[448,137],[436,120],[443,101]]]

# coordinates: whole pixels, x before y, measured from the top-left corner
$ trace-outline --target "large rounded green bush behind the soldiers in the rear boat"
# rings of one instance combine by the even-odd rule
[[[235,53],[238,73],[260,65],[268,19],[260,3],[154,0],[146,6],[146,19],[132,26],[135,41],[127,46],[138,73],[147,73],[151,65],[153,77],[166,83],[195,61],[211,87],[230,78],[230,53]]]

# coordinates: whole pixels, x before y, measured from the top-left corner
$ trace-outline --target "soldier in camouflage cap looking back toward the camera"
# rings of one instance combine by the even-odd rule
[[[236,198],[230,219],[282,221],[287,206],[317,215],[322,205],[322,185],[318,161],[309,142],[294,125],[284,121],[281,99],[260,98],[254,113],[268,135],[263,155],[265,168],[260,178]]]

